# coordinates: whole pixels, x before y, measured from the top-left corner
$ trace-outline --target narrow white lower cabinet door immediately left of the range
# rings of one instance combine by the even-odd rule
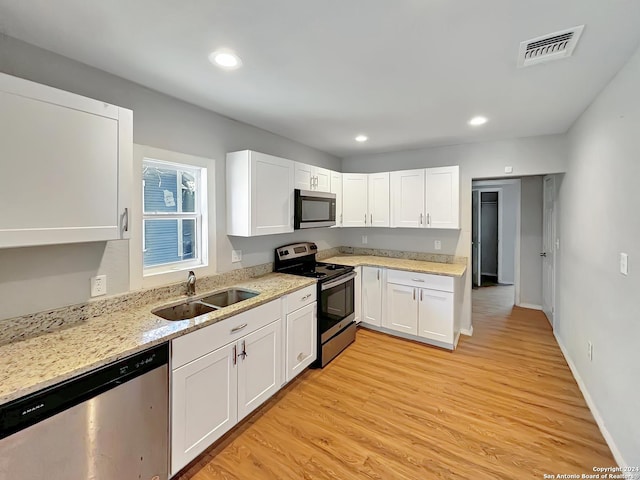
[[[313,302],[287,315],[287,382],[316,359],[316,311]]]

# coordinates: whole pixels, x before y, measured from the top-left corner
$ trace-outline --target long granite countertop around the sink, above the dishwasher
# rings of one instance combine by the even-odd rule
[[[259,295],[196,319],[170,322],[151,313],[154,308],[179,300],[178,297],[144,305],[131,302],[130,308],[114,308],[80,324],[0,346],[0,405],[212,325],[315,282],[315,279],[306,277],[270,273],[211,290],[243,287],[257,291]]]

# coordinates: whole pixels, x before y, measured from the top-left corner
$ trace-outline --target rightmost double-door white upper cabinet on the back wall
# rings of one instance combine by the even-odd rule
[[[460,228],[458,166],[391,172],[391,226]]]

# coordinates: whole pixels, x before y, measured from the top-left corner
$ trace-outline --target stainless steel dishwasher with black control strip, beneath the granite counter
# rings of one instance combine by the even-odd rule
[[[0,406],[1,480],[166,480],[169,345]]]

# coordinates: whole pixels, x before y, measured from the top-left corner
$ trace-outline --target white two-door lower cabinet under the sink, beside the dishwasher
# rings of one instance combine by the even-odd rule
[[[280,389],[281,324],[277,300],[173,340],[171,475]]]

